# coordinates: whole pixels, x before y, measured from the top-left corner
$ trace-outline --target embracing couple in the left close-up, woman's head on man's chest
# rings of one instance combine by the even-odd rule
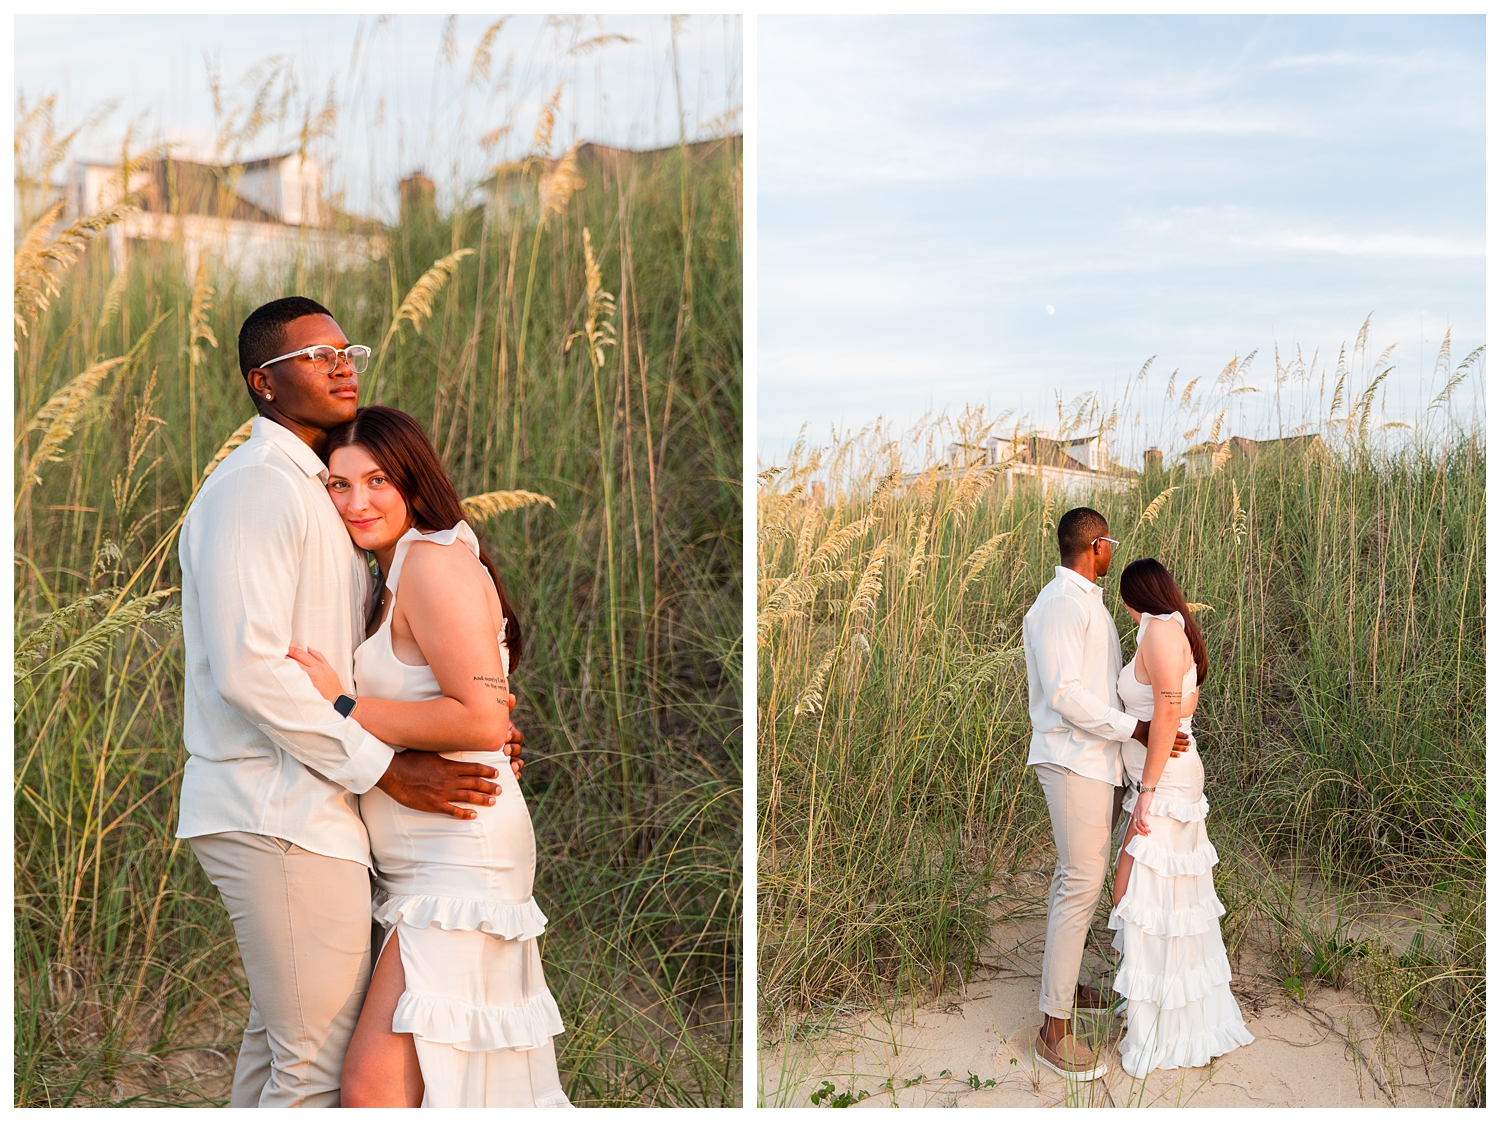
[[[422,428],[356,408],[369,354],[312,300],[252,312],[258,417],[182,528],[177,837],[249,982],[231,1106],[566,1107],[520,764],[486,764],[520,624]]]

